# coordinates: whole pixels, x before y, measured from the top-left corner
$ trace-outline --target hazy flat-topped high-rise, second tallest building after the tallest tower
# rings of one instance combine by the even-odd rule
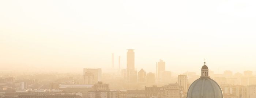
[[[159,62],[157,62],[157,80],[159,81],[161,79],[161,73],[165,71],[165,62],[163,62],[163,60],[159,60]]]

